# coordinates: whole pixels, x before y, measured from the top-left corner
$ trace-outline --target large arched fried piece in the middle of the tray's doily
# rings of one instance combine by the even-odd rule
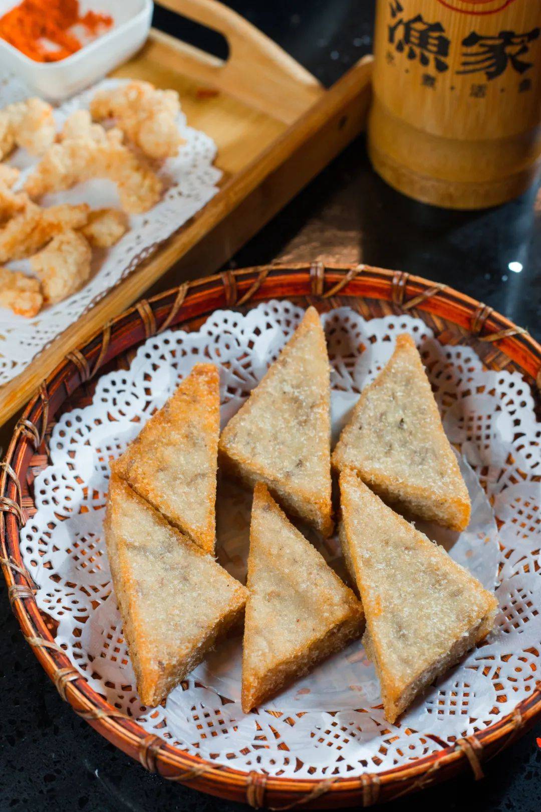
[[[118,129],[105,132],[93,124],[92,132],[85,134],[82,117],[75,125],[73,119],[68,119],[66,127],[63,140],[47,150],[29,175],[25,189],[30,197],[68,189],[83,180],[108,178],[118,185],[122,208],[131,214],[141,214],[157,203],[161,180],[122,144]],[[78,127],[81,134],[71,137],[72,127]]]

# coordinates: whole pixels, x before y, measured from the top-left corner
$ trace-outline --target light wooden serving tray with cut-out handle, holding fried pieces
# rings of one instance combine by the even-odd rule
[[[221,3],[161,0],[161,6],[221,33],[229,58],[221,61],[152,29],[143,49],[113,76],[178,90],[188,123],[217,144],[220,191],[24,372],[0,387],[0,424],[24,405],[67,352],[171,266],[170,284],[221,266],[363,130],[371,57],[326,91],[278,45]]]

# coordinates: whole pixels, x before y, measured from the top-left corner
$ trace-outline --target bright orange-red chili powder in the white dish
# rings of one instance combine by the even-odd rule
[[[89,37],[110,28],[113,18],[96,11],[79,13],[79,0],[23,0],[0,17],[0,37],[36,62],[58,62],[83,47],[74,25]],[[56,45],[47,48],[44,41]]]

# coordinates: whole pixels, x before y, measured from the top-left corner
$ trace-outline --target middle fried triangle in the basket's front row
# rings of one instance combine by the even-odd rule
[[[251,514],[243,649],[243,711],[363,630],[361,604],[298,532],[263,483]]]

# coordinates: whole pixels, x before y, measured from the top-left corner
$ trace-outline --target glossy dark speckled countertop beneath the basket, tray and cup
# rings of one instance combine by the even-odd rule
[[[374,0],[234,0],[229,3],[277,40],[324,84],[371,50]],[[99,5],[99,4],[98,4]],[[164,11],[155,23],[209,45]],[[212,43],[211,45],[212,46]],[[218,47],[219,51],[219,47]],[[359,139],[234,257],[252,265],[277,257],[366,261],[443,281],[483,300],[541,338],[541,195],[536,190],[487,211],[444,212],[385,186]],[[509,270],[519,263],[520,273]],[[512,265],[512,267],[518,267]],[[149,775],[78,719],[41,671],[0,586],[0,810],[241,810],[236,804]],[[538,812],[541,725],[486,767],[389,810]]]

